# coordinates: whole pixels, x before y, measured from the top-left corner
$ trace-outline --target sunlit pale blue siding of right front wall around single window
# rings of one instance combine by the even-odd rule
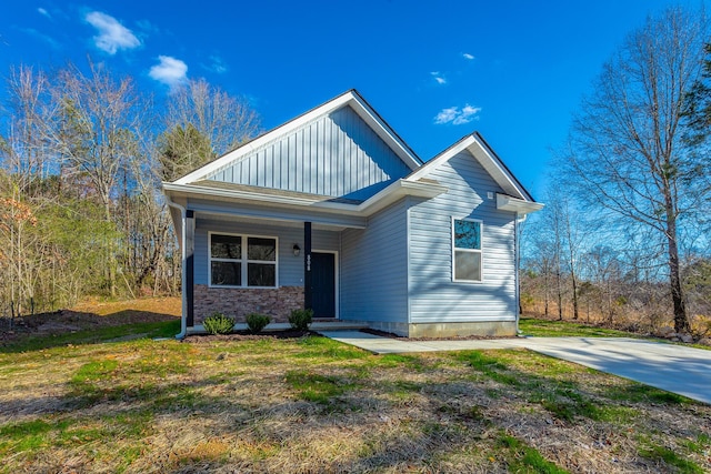
[[[449,191],[409,200],[410,323],[514,321],[514,214],[488,198],[502,190],[468,151],[428,178]],[[482,221],[482,282],[452,281],[452,218]]]

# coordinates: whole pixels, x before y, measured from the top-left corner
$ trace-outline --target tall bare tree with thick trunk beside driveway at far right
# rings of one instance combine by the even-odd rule
[[[707,23],[681,8],[648,19],[604,64],[571,130],[571,189],[663,235],[674,327],[689,332],[679,226],[708,198],[705,164],[684,148],[684,97],[700,77]],[[689,219],[692,222],[692,219]]]

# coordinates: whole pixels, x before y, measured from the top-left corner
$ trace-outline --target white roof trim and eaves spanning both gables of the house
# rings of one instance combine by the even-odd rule
[[[401,174],[402,178],[389,182],[383,189],[378,190],[372,195],[363,196],[362,200],[313,194],[303,190],[270,189],[251,183],[228,183],[210,179],[217,171],[249,157],[274,140],[279,140],[346,107],[350,107],[392,150],[394,155],[402,160],[405,170],[411,170],[409,174]],[[463,151],[467,151],[503,191],[503,193],[497,193],[497,209],[528,214],[543,208],[543,204],[533,200],[531,194],[478,132],[463,137],[433,159],[422,163],[410,147],[400,139],[356,90],[338,95],[173,182],[163,182],[162,188],[169,199],[194,196],[257,205],[282,206],[284,209],[307,206],[313,211],[333,213],[334,215],[368,216],[404,195],[430,199],[445,193],[448,189],[439,182],[428,179],[428,175]]]

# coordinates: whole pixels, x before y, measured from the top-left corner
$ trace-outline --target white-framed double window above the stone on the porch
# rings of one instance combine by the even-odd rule
[[[277,239],[210,233],[210,285],[277,286]]]

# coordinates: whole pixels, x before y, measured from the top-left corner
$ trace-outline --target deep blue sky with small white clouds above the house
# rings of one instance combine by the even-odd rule
[[[204,78],[247,97],[264,129],[354,88],[423,160],[478,130],[540,196],[550,148],[602,63],[678,3],[11,1],[0,74],[90,56],[159,100]]]

